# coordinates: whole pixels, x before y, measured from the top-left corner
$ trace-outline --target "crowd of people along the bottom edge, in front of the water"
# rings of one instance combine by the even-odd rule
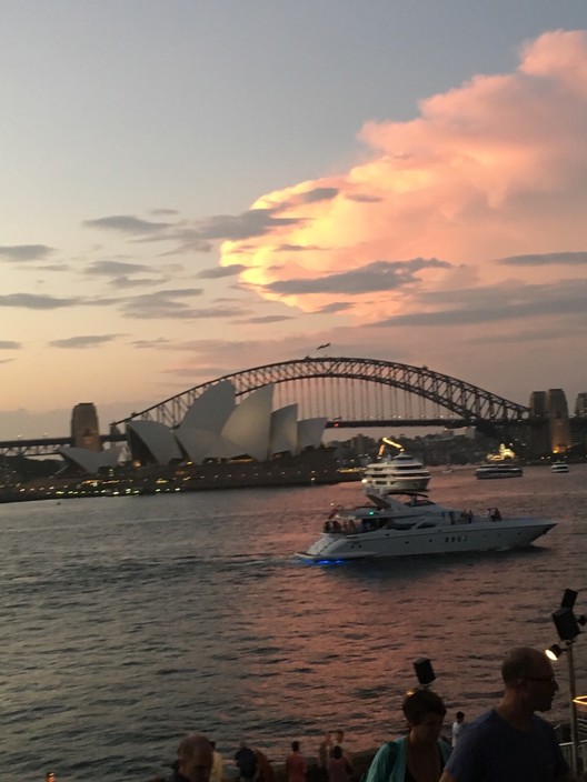
[[[441,736],[447,709],[427,686],[408,692],[401,704],[407,733],[379,748],[359,782],[587,782],[574,778],[551,725],[536,712],[550,709],[558,690],[544,652],[517,646],[501,664],[500,702],[466,722],[458,711],[450,739]],[[276,782],[260,750],[241,743],[233,763],[239,782]],[[299,741],[283,758],[287,782],[310,782]],[[326,733],[311,782],[357,781],[344,731]],[[223,761],[201,734],[183,739],[169,776],[150,782],[221,782]]]

